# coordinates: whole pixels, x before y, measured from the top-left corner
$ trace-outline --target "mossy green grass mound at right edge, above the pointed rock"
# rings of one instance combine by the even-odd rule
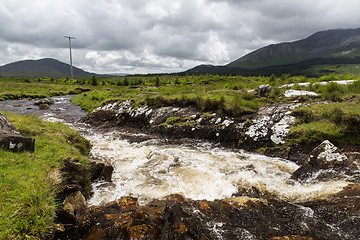
[[[360,97],[352,102],[319,104],[297,108],[297,117],[288,140],[290,143],[317,143],[328,139],[334,143],[360,144]]]

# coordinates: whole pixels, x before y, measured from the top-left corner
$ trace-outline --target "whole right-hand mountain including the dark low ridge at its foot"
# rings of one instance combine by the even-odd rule
[[[189,73],[293,73],[314,65],[359,64],[360,28],[317,32],[305,39],[271,44],[225,66],[197,66]]]

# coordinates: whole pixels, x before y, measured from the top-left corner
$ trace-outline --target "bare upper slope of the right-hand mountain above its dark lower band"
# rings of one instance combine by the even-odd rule
[[[353,56],[360,56],[360,28],[322,31],[303,40],[272,44],[226,66],[254,69],[293,64],[314,58]]]

